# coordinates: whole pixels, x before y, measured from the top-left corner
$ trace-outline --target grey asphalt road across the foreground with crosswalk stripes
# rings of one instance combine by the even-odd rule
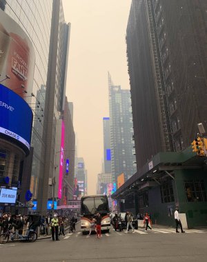
[[[207,260],[207,230],[186,230],[176,234],[174,229],[143,229],[126,234],[110,230],[97,239],[95,234],[81,232],[61,236],[61,241],[44,239],[35,243],[0,245],[2,262],[195,262]]]

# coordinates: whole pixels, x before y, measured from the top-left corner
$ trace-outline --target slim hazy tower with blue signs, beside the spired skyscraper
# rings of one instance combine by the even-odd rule
[[[111,173],[110,117],[103,117],[103,173]]]

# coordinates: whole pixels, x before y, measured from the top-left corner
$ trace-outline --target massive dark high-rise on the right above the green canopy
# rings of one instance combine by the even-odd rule
[[[137,167],[206,128],[206,1],[132,0],[126,34]],[[172,26],[173,25],[173,26]]]

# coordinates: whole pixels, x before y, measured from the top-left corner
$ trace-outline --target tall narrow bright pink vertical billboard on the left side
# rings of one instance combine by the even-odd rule
[[[61,152],[59,157],[59,185],[57,197],[61,199],[62,197],[62,183],[63,183],[63,163],[64,163],[64,139],[65,139],[65,124],[62,121],[61,125]]]

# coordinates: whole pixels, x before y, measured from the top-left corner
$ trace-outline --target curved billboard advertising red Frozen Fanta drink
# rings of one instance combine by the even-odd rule
[[[0,52],[0,81],[5,79],[3,84],[21,97],[25,97],[25,92],[30,95],[35,61],[32,42],[21,26],[1,9]]]

